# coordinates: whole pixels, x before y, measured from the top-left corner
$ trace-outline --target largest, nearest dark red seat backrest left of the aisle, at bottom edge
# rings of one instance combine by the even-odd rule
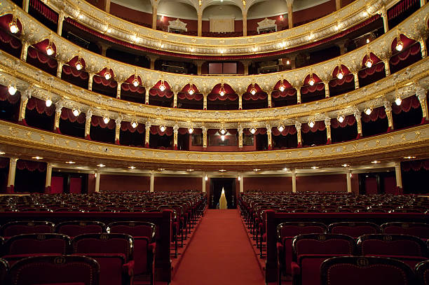
[[[100,266],[86,256],[33,256],[19,260],[9,270],[11,284],[98,285]]]

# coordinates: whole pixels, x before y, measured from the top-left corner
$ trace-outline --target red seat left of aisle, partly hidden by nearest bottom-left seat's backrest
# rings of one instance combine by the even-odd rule
[[[134,269],[134,239],[130,235],[84,234],[71,241],[74,254],[81,254],[100,263],[100,284],[130,284]]]

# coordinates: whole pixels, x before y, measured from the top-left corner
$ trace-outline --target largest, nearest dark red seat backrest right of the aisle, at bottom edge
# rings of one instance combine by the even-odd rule
[[[322,285],[412,285],[411,268],[400,260],[374,256],[340,256],[320,266]]]

